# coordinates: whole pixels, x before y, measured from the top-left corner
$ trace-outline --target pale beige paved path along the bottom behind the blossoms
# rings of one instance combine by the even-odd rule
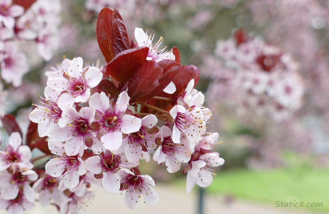
[[[109,194],[101,187],[92,187],[97,191],[95,198],[88,207],[85,207],[81,214],[197,214],[197,192],[186,194],[184,189],[171,187],[168,184],[157,183],[155,191],[160,196],[160,201],[156,205],[148,205],[140,200],[139,207],[131,210],[124,205],[124,195],[120,193]],[[194,187],[195,188],[195,187]],[[196,189],[196,188],[195,188]],[[124,193],[123,193],[124,194]],[[205,197],[204,214],[314,214],[302,208],[275,208],[263,204],[233,200],[230,204],[224,202],[222,196]],[[306,208],[305,208],[306,209]],[[0,214],[5,214],[0,211]],[[56,214],[54,207],[40,207],[39,204],[32,210],[27,210],[24,214]],[[321,214],[321,213],[317,213]]]

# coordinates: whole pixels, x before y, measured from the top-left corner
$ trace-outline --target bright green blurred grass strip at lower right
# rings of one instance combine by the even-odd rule
[[[322,203],[309,210],[329,212],[329,169],[231,170],[219,172],[207,187],[210,193],[277,206],[277,201]],[[303,208],[305,209],[305,208]]]

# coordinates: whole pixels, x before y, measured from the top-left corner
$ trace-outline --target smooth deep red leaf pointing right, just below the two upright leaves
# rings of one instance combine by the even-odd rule
[[[146,61],[148,51],[147,47],[122,51],[106,66],[106,75],[119,82],[119,90]]]

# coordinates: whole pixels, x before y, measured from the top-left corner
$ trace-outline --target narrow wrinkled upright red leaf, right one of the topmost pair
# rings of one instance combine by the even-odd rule
[[[121,51],[130,49],[128,32],[117,8],[113,10],[111,30],[111,42],[114,56]]]

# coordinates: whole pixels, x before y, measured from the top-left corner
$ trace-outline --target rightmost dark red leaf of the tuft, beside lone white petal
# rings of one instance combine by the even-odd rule
[[[194,79],[194,86],[196,86],[196,83],[199,81],[199,77],[200,77],[199,69],[196,66],[194,65],[182,66],[181,71],[173,80],[176,86],[176,92],[173,93],[173,96],[181,95],[185,91],[191,79]]]

